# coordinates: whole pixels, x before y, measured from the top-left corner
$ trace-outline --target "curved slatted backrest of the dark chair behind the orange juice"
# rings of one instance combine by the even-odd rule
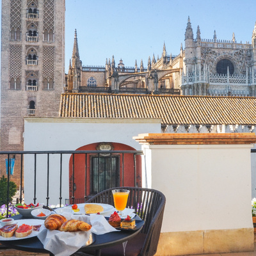
[[[140,255],[154,255],[161,232],[166,198],[160,191],[147,188],[120,187],[106,189],[93,196],[86,203],[101,203],[114,205],[112,189],[129,189],[127,207],[135,210],[145,225],[141,230],[147,234]],[[114,205],[115,206],[115,205]]]

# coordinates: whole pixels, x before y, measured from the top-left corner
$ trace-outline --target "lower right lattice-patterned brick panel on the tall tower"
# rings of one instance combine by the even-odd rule
[[[43,47],[43,77],[54,80],[55,70],[55,47],[44,46]]]

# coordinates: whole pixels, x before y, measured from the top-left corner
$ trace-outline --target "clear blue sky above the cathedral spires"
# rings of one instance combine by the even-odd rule
[[[168,54],[179,54],[184,45],[188,16],[196,37],[252,42],[256,21],[256,0],[66,0],[65,70],[72,56],[77,29],[83,65],[105,65],[106,58],[122,58],[125,66],[147,67],[148,56],[161,56],[163,44]]]

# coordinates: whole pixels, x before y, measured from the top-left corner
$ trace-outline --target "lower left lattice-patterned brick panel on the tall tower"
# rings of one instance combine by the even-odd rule
[[[21,78],[22,46],[10,45],[10,79]]]

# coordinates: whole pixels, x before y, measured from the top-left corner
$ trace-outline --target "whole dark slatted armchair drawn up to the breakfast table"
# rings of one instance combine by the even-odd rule
[[[86,203],[100,203],[114,205],[111,188],[93,196]],[[165,196],[156,189],[122,187],[129,189],[127,207],[135,209],[135,213],[145,221],[145,225],[138,236],[129,240],[125,248],[125,256],[151,256],[157,251],[157,244],[161,232],[164,214]],[[93,252],[92,252],[93,253]],[[76,255],[85,255],[77,253]],[[122,256],[124,249],[122,244],[104,248],[102,256]]]

